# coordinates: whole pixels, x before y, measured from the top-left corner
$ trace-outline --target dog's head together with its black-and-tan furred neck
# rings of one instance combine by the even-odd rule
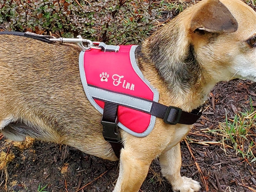
[[[172,95],[203,100],[218,81],[256,81],[256,13],[241,0],[202,0],[155,32],[143,50]]]

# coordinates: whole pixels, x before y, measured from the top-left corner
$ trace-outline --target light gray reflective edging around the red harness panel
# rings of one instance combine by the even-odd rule
[[[136,47],[137,46],[134,45],[131,47],[131,50],[130,50],[130,59],[131,59],[132,67],[134,68],[134,71],[137,73],[137,75],[140,77],[140,79],[142,79],[144,81],[144,83],[147,84],[148,87],[154,93],[153,101],[158,102],[158,99],[159,99],[158,91],[154,87],[152,87],[146,79],[144,79],[143,74],[141,73],[139,67],[137,66],[136,59],[135,59]],[[94,101],[92,95],[90,94],[90,90],[89,90],[90,87],[88,86],[87,81],[86,81],[86,75],[85,75],[85,71],[84,71],[84,51],[81,51],[80,55],[79,55],[79,70],[80,70],[81,81],[82,81],[82,84],[84,87],[84,92],[87,96],[87,99],[90,101],[90,103],[93,105],[93,107],[96,108],[96,110],[98,110],[100,113],[103,114],[103,109]],[[124,95],[122,95],[122,96],[124,96]],[[120,100],[119,100],[119,102],[120,102]],[[145,102],[144,100],[141,100],[141,101]],[[150,103],[150,102],[148,102],[148,103]],[[134,103],[132,105],[134,105]],[[152,105],[152,103],[151,103],[151,105]],[[138,108],[138,107],[136,106],[136,108]],[[155,122],[156,122],[156,117],[151,115],[148,128],[143,133],[136,133],[134,131],[131,131],[129,128],[125,127],[120,122],[117,125],[119,126],[119,128],[121,128],[122,130],[126,131],[127,133],[129,133],[135,137],[145,137],[152,131],[152,129],[154,128]]]

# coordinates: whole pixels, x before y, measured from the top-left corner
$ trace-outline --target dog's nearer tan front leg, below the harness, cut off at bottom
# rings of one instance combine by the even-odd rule
[[[144,157],[132,148],[122,148],[119,177],[113,192],[138,192],[148,174],[153,158]]]

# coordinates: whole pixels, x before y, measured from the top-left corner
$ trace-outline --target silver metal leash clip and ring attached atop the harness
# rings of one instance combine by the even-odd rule
[[[114,45],[106,45],[102,42],[93,42],[88,39],[83,39],[81,35],[78,35],[77,38],[50,38],[50,41],[61,42],[61,43],[75,43],[77,44],[82,50],[88,49],[99,49],[104,52],[118,52],[119,46]],[[87,43],[87,46],[84,45]],[[98,45],[98,46],[95,46]]]

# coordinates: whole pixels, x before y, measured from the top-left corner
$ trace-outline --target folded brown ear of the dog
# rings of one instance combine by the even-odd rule
[[[208,0],[207,3],[192,17],[190,29],[214,33],[236,32],[238,23],[219,0]]]

